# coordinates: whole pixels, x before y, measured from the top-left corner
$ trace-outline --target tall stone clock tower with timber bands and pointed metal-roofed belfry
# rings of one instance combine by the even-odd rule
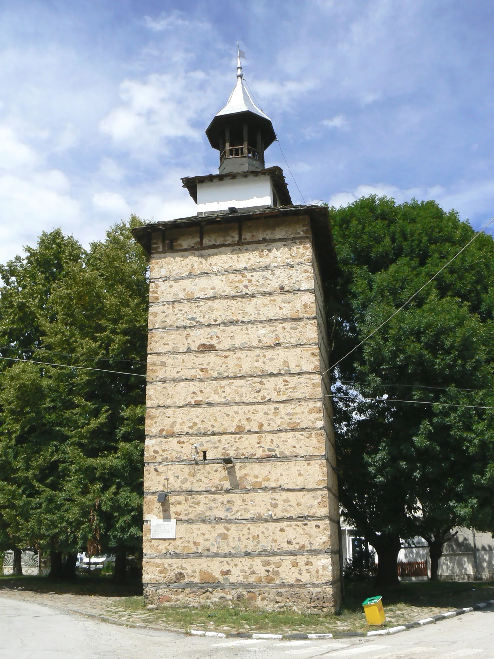
[[[328,611],[341,601],[328,213],[293,206],[283,171],[264,168],[274,131],[240,58],[207,135],[219,173],[182,179],[198,214],[134,229],[151,266],[144,593]]]

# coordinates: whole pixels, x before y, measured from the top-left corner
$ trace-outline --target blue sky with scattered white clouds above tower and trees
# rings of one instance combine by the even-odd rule
[[[0,262],[43,229],[194,214],[180,177],[217,171],[236,40],[306,202],[434,198],[480,227],[493,28],[480,0],[0,0]]]

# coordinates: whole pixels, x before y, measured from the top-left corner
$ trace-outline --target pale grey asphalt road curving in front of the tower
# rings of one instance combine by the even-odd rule
[[[325,641],[214,639],[101,623],[0,597],[0,659],[494,659],[494,608],[395,636]]]

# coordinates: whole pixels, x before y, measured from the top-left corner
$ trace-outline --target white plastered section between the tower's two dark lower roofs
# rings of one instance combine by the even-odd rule
[[[205,181],[197,186],[197,211],[215,213],[234,208],[273,206],[273,188],[267,176],[239,175],[223,181]]]

